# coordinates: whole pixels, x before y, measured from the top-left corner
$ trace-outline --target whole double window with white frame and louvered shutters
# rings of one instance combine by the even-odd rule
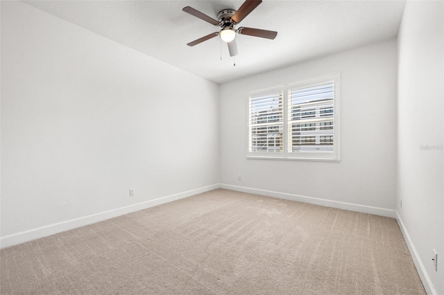
[[[250,92],[248,158],[339,161],[339,73]]]

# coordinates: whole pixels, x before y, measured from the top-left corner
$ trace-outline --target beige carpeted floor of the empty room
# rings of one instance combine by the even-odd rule
[[[1,294],[425,294],[395,220],[213,190],[0,251]]]

